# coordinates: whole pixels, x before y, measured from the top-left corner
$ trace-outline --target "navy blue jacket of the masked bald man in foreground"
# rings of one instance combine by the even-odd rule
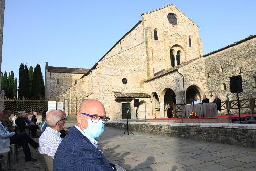
[[[106,157],[76,127],[60,143],[53,170],[113,171]]]

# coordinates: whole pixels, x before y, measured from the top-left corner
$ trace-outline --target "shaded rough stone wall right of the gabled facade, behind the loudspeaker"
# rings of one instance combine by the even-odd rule
[[[256,97],[256,37],[231,46],[219,52],[205,56],[205,77],[207,81],[206,95],[218,94],[221,101],[236,100],[237,95],[230,93],[229,77],[241,75],[243,93],[239,93],[240,99]],[[221,68],[222,67],[222,68]],[[239,68],[242,68],[240,73]],[[207,76],[209,73],[209,77]],[[226,84],[226,90],[223,89]],[[212,101],[214,98],[210,98]],[[234,111],[235,112],[235,111]]]

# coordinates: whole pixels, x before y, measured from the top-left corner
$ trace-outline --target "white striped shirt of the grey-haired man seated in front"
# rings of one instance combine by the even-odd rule
[[[54,155],[63,139],[60,137],[60,132],[50,127],[39,138],[39,153],[46,154],[54,158]]]

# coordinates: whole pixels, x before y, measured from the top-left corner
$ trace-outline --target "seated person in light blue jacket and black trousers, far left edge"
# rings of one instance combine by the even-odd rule
[[[0,148],[9,148],[10,144],[22,144],[25,162],[36,161],[36,159],[31,157],[29,145],[33,148],[38,148],[38,143],[30,138],[26,133],[16,134],[15,132],[9,132],[2,123],[3,119],[4,113],[0,111]]]

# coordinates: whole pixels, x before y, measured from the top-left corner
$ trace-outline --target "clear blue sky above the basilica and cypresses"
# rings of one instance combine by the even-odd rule
[[[35,67],[91,68],[140,19],[174,4],[199,27],[204,54],[256,34],[256,1],[5,0],[2,72]]]

